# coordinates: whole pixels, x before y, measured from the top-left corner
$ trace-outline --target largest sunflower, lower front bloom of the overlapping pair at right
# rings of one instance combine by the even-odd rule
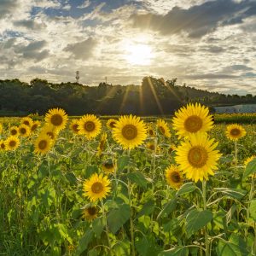
[[[208,174],[214,175],[217,170],[217,161],[221,154],[214,150],[218,143],[208,140],[206,133],[191,134],[186,140],[177,147],[175,160],[179,168],[186,177],[197,182],[204,178],[208,179]]]

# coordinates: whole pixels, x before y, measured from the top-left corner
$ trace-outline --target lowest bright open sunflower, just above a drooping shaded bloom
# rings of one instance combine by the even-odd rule
[[[102,200],[110,192],[110,181],[107,176],[94,173],[83,184],[84,196],[90,201]]]

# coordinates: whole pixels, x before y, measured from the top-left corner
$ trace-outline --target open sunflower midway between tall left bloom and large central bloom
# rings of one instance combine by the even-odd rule
[[[84,135],[87,139],[97,137],[102,130],[100,119],[94,114],[85,114],[79,119],[79,134]]]

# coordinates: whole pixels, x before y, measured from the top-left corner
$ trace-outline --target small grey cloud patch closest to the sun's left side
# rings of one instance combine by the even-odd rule
[[[93,49],[96,47],[96,40],[88,38],[82,42],[75,44],[67,44],[64,49],[71,52],[76,59],[87,60],[93,55]]]

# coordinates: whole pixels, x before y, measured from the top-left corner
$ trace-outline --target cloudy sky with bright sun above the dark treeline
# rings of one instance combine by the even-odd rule
[[[256,95],[256,0],[0,0],[0,60],[0,79]]]

